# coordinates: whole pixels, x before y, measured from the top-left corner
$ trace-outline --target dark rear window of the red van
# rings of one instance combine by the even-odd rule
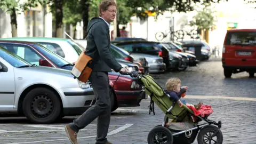
[[[256,46],[256,32],[235,31],[227,34],[226,45]]]

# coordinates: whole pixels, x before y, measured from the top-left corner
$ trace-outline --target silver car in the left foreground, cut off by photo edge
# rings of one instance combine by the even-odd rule
[[[31,65],[0,47],[0,113],[25,115],[34,123],[51,123],[80,115],[94,104],[89,82],[70,70]]]

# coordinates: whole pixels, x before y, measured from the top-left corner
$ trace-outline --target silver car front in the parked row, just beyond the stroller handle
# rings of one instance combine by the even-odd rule
[[[139,58],[145,58],[148,62],[149,73],[163,73],[165,71],[166,66],[161,57],[143,53],[131,53],[130,55],[135,61]]]

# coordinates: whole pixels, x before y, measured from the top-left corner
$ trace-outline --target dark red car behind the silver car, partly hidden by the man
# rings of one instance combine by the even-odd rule
[[[5,49],[19,55],[21,58],[37,66],[47,66],[71,70],[74,66],[59,55],[45,48],[44,46],[22,41],[0,41],[0,45]],[[119,73],[109,73],[109,85],[113,87]],[[126,75],[120,75],[114,86],[114,92],[111,95],[111,111],[118,107],[140,106],[140,101],[145,98],[145,92],[137,84],[138,78],[132,78]],[[110,88],[111,88],[110,87]],[[86,101],[87,102],[87,101]],[[95,103],[94,101],[88,101]]]

